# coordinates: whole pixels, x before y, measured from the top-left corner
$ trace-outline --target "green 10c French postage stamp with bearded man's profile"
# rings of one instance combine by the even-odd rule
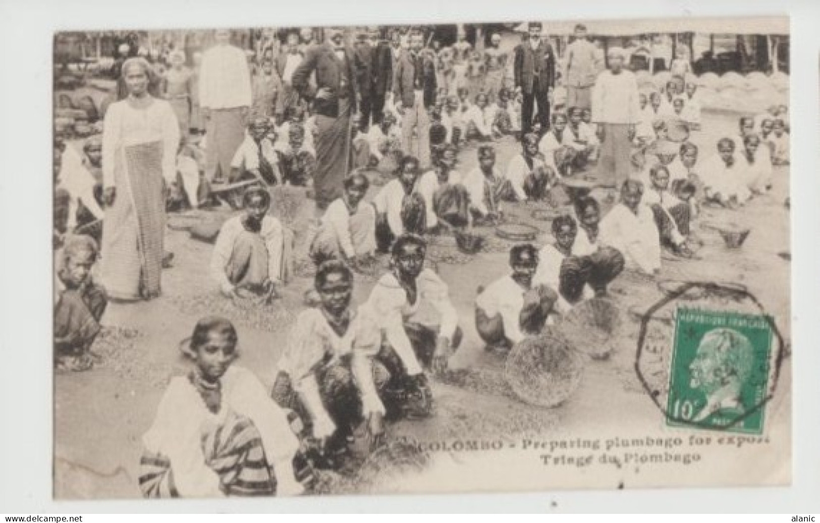
[[[771,357],[768,316],[678,308],[667,424],[762,434]]]

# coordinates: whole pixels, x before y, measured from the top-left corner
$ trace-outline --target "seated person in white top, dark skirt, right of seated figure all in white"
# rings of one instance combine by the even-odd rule
[[[644,193],[643,202],[652,209],[661,243],[680,257],[692,257],[692,252],[686,245],[691,219],[689,202],[682,202],[671,192],[666,166],[653,166],[649,170],[649,179],[651,181]]]

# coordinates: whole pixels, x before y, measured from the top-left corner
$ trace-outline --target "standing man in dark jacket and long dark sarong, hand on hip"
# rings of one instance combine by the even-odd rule
[[[303,98],[312,98],[316,118],[316,171],[313,189],[317,209],[342,195],[342,181],[350,166],[350,118],[356,111],[356,76],[353,50],[344,45],[340,28],[327,30],[325,43],[307,49],[304,61],[294,71],[294,89]],[[310,76],[316,73],[316,91]]]

